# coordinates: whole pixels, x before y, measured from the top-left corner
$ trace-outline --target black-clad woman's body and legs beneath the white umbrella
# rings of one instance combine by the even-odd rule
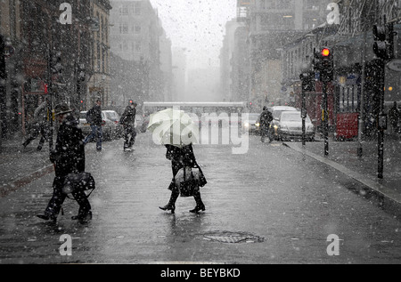
[[[201,191],[199,187],[203,187],[207,181],[201,172],[201,167],[196,163],[195,155],[193,154],[192,144],[185,145],[183,147],[177,147],[174,145],[165,145],[167,148],[166,157],[171,160],[171,167],[173,170],[173,181],[171,181],[168,189],[171,190],[171,197],[168,201],[168,205],[160,206],[163,211],[171,211],[172,214],[176,211],[176,199],[180,196],[180,188],[176,185],[177,173],[184,167],[198,168],[200,170],[200,181],[197,189],[193,191],[193,198],[195,199],[196,206],[190,211],[191,213],[197,214],[200,211],[205,211],[205,205],[201,199]]]

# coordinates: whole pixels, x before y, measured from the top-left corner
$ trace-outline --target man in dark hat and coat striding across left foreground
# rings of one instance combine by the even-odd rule
[[[55,148],[50,153],[50,161],[54,165],[55,178],[53,181],[53,197],[45,208],[45,214],[37,214],[37,217],[45,221],[56,222],[61,205],[67,194],[62,188],[69,173],[85,172],[85,146],[84,135],[78,128],[78,120],[71,115],[72,110],[67,104],[55,107],[55,115],[60,123],[59,133]],[[72,192],[72,196],[78,202],[79,211],[73,220],[87,222],[92,219],[91,205],[82,190]]]

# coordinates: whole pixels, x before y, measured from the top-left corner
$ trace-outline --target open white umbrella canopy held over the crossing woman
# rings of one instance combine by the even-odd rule
[[[183,147],[199,140],[199,125],[184,110],[164,109],[152,114],[148,129],[157,144]]]

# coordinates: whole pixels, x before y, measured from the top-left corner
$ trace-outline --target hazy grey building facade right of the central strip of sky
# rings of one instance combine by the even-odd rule
[[[282,47],[325,20],[327,4],[315,0],[238,1],[239,20],[249,28],[248,100],[256,109],[282,103],[289,89],[282,85]],[[236,55],[238,57],[238,55]]]

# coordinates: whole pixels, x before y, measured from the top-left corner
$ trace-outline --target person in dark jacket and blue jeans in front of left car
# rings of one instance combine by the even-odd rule
[[[86,113],[86,121],[91,126],[91,133],[86,136],[86,139],[84,141],[84,145],[86,145],[88,142],[96,140],[96,149],[98,151],[102,150],[103,137],[101,105],[102,101],[98,99],[96,101],[96,105],[94,105],[94,108],[89,109],[89,111]]]

